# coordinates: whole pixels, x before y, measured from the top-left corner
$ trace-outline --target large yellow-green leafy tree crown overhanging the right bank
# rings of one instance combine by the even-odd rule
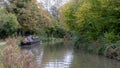
[[[113,42],[119,37],[119,0],[75,0],[65,6],[62,12],[67,27],[84,39],[97,40],[104,36],[105,40]]]

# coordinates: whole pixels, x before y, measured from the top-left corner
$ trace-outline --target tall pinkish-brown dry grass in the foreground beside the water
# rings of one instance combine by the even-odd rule
[[[16,39],[7,39],[7,44],[1,51],[1,68],[40,68],[35,58],[28,51],[21,52]]]

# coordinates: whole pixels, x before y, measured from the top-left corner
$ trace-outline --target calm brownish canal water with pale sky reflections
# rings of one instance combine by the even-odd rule
[[[28,50],[41,68],[120,68],[120,62],[74,50],[63,43],[41,44]]]

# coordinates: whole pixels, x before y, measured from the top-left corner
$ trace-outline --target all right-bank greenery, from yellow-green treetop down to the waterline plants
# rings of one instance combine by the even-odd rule
[[[77,37],[76,48],[110,57],[119,55],[120,0],[72,0],[61,10],[62,22]]]

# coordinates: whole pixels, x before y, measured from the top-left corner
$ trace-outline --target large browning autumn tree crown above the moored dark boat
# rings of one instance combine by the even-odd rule
[[[49,14],[36,3],[36,0],[10,0],[6,9],[17,16],[23,33],[26,31],[37,33],[40,28],[51,22]]]

